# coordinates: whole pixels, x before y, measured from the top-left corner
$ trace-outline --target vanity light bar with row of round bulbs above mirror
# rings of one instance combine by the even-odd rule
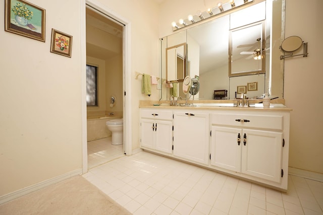
[[[204,19],[215,17],[223,12],[235,10],[241,6],[254,2],[254,0],[220,0],[225,3],[219,3],[218,7],[211,7],[204,12],[198,11],[196,15],[188,15],[187,19],[180,19],[178,23],[172,22],[173,31],[181,29],[183,27],[198,23]]]

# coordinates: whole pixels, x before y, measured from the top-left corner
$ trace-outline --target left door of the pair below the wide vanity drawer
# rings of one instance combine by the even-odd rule
[[[240,172],[241,137],[242,129],[212,126],[211,165]]]

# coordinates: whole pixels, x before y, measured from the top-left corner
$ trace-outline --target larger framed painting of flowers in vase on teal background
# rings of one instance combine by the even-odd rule
[[[45,13],[23,0],[5,0],[5,31],[45,42]]]

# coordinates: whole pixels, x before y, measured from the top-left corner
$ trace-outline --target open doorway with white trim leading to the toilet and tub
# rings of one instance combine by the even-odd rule
[[[109,45],[109,43],[101,43],[101,44],[95,44],[95,41],[91,41],[91,37],[86,34],[86,37],[83,37],[84,40],[86,41],[84,46],[86,47],[86,57],[83,60],[84,63],[88,64],[89,61],[94,61],[97,60],[96,62],[98,64],[103,64],[105,67],[110,67],[107,69],[103,70],[113,70],[113,71],[118,71],[118,73],[110,73],[109,71],[107,73],[104,73],[104,75],[101,74],[101,78],[104,77],[105,80],[105,85],[106,85],[106,90],[102,91],[101,93],[98,93],[98,97],[101,96],[103,100],[101,100],[101,103],[98,102],[98,107],[92,108],[92,112],[89,114],[87,111],[87,107],[82,107],[82,121],[83,121],[83,126],[82,126],[82,131],[83,133],[88,133],[87,130],[87,115],[91,115],[93,111],[98,111],[100,113],[104,113],[104,116],[107,117],[123,117],[124,121],[124,145],[120,148],[120,154],[119,155],[113,155],[110,159],[116,158],[116,156],[124,156],[124,155],[131,155],[131,138],[129,137],[129,134],[131,133],[131,120],[129,116],[129,113],[131,112],[130,109],[130,93],[127,94],[127,92],[130,92],[128,89],[130,89],[131,85],[130,83],[130,63],[128,62],[129,56],[130,56],[130,45],[129,45],[129,30],[130,29],[130,23],[121,19],[120,16],[108,13],[107,11],[112,11],[107,8],[104,8],[102,6],[98,7],[97,4],[94,3],[93,0],[88,1],[85,0],[86,3],[86,8],[84,10],[84,15],[88,17],[90,15],[90,20],[92,21],[92,24],[88,27],[85,25],[85,29],[83,29],[84,33],[88,33],[90,30],[90,34],[110,34],[110,38],[114,41],[116,40],[121,40],[121,53],[118,55],[117,48],[110,47],[106,48],[105,46]],[[85,19],[85,23],[87,22],[88,19]],[[87,29],[90,28],[90,29]],[[82,39],[82,38],[81,38]],[[106,39],[106,37],[103,37],[103,41]],[[95,40],[95,39],[94,39]],[[90,45],[89,45],[90,44]],[[116,54],[117,53],[117,54]],[[118,55],[118,56],[117,56]],[[113,65],[112,62],[116,61],[116,58],[121,61],[121,65]],[[121,59],[121,60],[120,60]],[[83,62],[82,61],[82,62]],[[102,61],[107,61],[102,63]],[[110,61],[110,63],[109,63]],[[92,63],[93,64],[93,63]],[[104,67],[103,66],[103,67]],[[83,71],[83,74],[86,74],[86,71]],[[84,76],[84,75],[83,75]],[[113,76],[116,76],[115,78]],[[100,77],[98,77],[98,85],[100,85]],[[84,77],[83,77],[84,78]],[[116,82],[116,79],[119,80],[121,84],[119,84],[119,88],[114,86],[114,83]],[[107,82],[106,82],[107,80]],[[102,80],[101,80],[102,81]],[[101,83],[101,86],[104,85]],[[84,85],[84,84],[83,84]],[[123,87],[121,87],[123,86]],[[86,86],[82,86],[83,89],[83,99],[85,100],[86,98]],[[103,93],[102,93],[103,92]],[[105,93],[105,95],[104,95]],[[110,106],[110,98],[114,96],[116,99],[116,102],[114,103],[113,106]],[[118,107],[115,107],[117,106]],[[105,106],[105,109],[103,108]],[[104,124],[103,124],[104,125]],[[82,136],[82,146],[83,146],[83,173],[87,172],[87,169],[91,167],[88,161],[88,138],[86,137],[87,135]],[[111,138],[111,136],[110,136]],[[104,142],[104,139],[101,139],[101,145],[102,145],[102,140]],[[106,141],[107,140],[107,141]],[[111,148],[111,140],[105,139],[105,143]],[[103,145],[105,144],[103,143]],[[99,144],[99,145],[100,145]],[[91,153],[91,152],[89,152]],[[96,156],[99,159],[102,159],[102,152],[98,151],[96,152]],[[103,159],[104,160],[104,159]],[[103,163],[107,162],[106,160],[103,161]],[[93,165],[92,165],[93,166]]]

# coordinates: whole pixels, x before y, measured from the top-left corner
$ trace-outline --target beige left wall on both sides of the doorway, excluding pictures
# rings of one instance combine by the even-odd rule
[[[82,170],[80,20],[83,1],[30,0],[46,10],[46,42],[5,32],[0,16],[0,198],[14,191]],[[95,1],[92,1],[95,2]],[[97,1],[131,23],[132,142],[139,148],[140,93],[135,71],[157,75],[158,5],[150,0]],[[0,4],[0,11],[4,11]],[[127,7],[125,7],[127,6]],[[83,25],[83,24],[82,24]],[[51,28],[73,36],[72,57],[49,52]],[[83,37],[84,38],[84,37]],[[85,65],[84,65],[85,66]],[[117,93],[116,93],[117,94]],[[119,99],[122,99],[120,97]]]

